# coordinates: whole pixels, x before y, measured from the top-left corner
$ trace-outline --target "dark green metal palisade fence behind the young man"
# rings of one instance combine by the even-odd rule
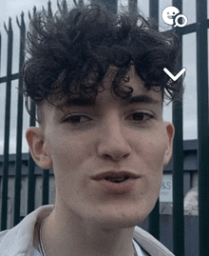
[[[96,1],[96,0],[95,0]],[[94,2],[95,2],[94,1]],[[118,10],[118,1],[101,0],[110,7],[111,10]],[[129,10],[133,13],[137,11],[137,0],[129,0]],[[172,1],[172,5],[177,7],[182,13],[182,0]],[[149,15],[159,20],[159,1],[149,0]],[[209,20],[207,19],[207,1],[196,1],[197,22],[183,28],[174,28],[180,36],[189,33],[196,33],[197,36],[197,85],[198,85],[198,155],[199,155],[199,255],[209,255],[209,129],[208,129],[208,37]],[[50,2],[48,2],[48,10]],[[35,11],[35,9],[34,9]],[[17,18],[17,25],[20,31],[20,50],[19,50],[19,70],[21,69],[25,54],[24,42],[26,37],[26,26],[24,13],[21,19]],[[9,25],[5,25],[8,36],[8,57],[7,75],[0,77],[0,84],[6,83],[6,105],[5,105],[5,138],[4,138],[4,164],[3,164],[3,184],[2,184],[2,206],[1,206],[1,229],[7,228],[7,209],[8,209],[8,183],[9,183],[9,157],[10,157],[10,106],[11,106],[11,82],[18,80],[18,88],[22,89],[22,79],[19,72],[12,73],[12,44],[13,31],[11,19]],[[0,34],[0,60],[2,52],[2,38]],[[180,66],[182,64],[182,54]],[[2,64],[1,64],[2,66]],[[0,68],[1,68],[0,66]],[[186,95],[185,95],[186,97]],[[35,109],[33,109],[33,112]],[[183,213],[183,137],[182,137],[182,101],[173,106],[173,123],[176,127],[173,156],[173,251],[177,256],[184,253],[184,213]],[[30,126],[35,126],[35,121],[30,119]],[[21,176],[23,166],[22,136],[23,136],[23,97],[18,94],[17,104],[17,136],[16,136],[16,159],[15,159],[15,197],[14,197],[14,216],[13,225],[17,225],[20,220],[21,202]],[[29,155],[28,159],[28,213],[35,208],[35,164]],[[48,177],[49,170],[43,172],[43,205],[48,204]],[[149,215],[149,232],[160,239],[160,213],[159,201]]]

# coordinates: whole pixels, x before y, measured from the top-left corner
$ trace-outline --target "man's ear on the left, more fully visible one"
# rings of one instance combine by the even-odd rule
[[[26,138],[30,154],[40,168],[52,167],[52,161],[45,147],[45,139],[42,134],[42,128],[30,127],[27,129]]]

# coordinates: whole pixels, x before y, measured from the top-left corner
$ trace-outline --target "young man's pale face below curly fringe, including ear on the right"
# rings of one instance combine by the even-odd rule
[[[54,169],[57,207],[105,228],[135,226],[150,213],[172,151],[161,92],[145,89],[134,69],[127,86],[134,91],[126,103],[112,97],[106,77],[96,105],[44,108],[43,148]]]

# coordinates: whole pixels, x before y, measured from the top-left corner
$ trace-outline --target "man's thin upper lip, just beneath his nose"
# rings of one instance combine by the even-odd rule
[[[91,178],[93,180],[100,181],[100,180],[104,180],[106,178],[120,178],[122,176],[126,176],[131,179],[137,179],[140,177],[139,174],[136,174],[136,173],[133,173],[130,171],[108,170],[108,171],[104,171],[99,174],[96,174],[96,175],[92,176]]]

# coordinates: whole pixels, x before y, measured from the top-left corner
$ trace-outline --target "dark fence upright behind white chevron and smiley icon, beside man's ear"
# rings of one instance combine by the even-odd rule
[[[173,6],[182,13],[182,0],[173,0]],[[182,45],[180,28],[174,28]],[[179,66],[182,68],[182,49]],[[183,122],[182,98],[173,104],[173,124],[175,137],[173,147],[173,248],[176,256],[184,255],[184,210],[183,210]]]

